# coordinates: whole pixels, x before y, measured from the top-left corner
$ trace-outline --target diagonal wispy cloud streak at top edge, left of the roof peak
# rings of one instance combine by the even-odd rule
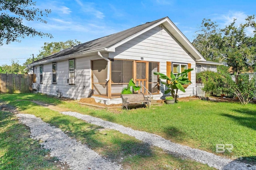
[[[82,8],[82,10],[86,13],[90,13],[94,16],[96,16],[96,18],[99,19],[103,19],[105,16],[102,12],[100,12],[99,10],[96,10],[93,7],[93,3],[82,3],[80,0],[76,0],[76,2],[78,3],[78,5],[80,5],[80,7]]]

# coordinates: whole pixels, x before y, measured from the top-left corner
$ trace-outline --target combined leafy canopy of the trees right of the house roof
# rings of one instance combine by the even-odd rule
[[[234,19],[223,29],[215,22],[204,19],[192,43],[207,60],[228,64],[236,74],[256,68],[254,15],[248,16],[245,23],[239,26]]]

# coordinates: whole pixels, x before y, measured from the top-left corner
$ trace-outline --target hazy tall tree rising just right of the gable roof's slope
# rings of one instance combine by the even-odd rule
[[[219,61],[222,58],[220,53],[221,33],[216,22],[210,19],[203,19],[200,30],[196,31],[197,36],[192,44],[200,54],[208,61]]]

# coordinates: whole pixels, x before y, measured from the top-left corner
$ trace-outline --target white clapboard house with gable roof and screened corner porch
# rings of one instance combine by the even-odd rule
[[[194,68],[188,75],[192,84],[179,97],[195,95],[198,62],[208,63],[165,17],[62,50],[28,68],[36,74],[41,93],[74,99],[92,96],[98,102],[118,104],[130,79],[141,92],[160,99],[165,87],[154,72],[170,75],[188,68]]]

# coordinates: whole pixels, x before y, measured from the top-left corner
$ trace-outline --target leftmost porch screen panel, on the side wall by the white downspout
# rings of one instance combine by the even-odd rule
[[[108,85],[106,84],[108,73],[108,62],[104,59],[92,61],[92,76],[94,94],[108,95]]]

